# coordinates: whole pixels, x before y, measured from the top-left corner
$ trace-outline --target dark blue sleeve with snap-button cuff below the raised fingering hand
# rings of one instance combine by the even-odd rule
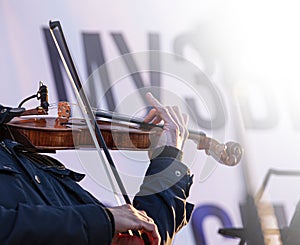
[[[188,168],[170,157],[151,160],[134,206],[144,210],[158,226],[162,244],[171,244],[190,219],[193,205],[186,201],[192,176]]]

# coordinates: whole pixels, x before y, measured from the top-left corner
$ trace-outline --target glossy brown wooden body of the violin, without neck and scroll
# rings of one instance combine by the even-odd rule
[[[112,150],[148,150],[157,129],[149,131],[138,126],[97,120],[104,140]],[[34,151],[94,148],[83,119],[63,117],[18,117],[6,124],[4,135]]]

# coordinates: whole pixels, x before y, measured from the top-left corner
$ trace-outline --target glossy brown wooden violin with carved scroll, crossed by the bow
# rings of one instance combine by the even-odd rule
[[[57,117],[28,116],[32,111],[22,113],[27,116],[13,118],[4,127],[3,134],[26,148],[39,152],[94,147],[85,121],[70,117],[68,103],[59,103]],[[95,115],[105,143],[111,150],[150,150],[155,147],[153,141],[162,130],[162,125],[143,123],[137,118],[103,111],[96,112]],[[222,164],[234,166],[241,160],[243,149],[238,143],[222,144],[203,132],[192,130],[189,130],[189,139],[196,142],[198,150],[204,150]]]

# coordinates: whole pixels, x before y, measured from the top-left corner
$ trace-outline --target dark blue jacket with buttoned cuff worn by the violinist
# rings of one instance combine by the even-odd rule
[[[44,158],[54,166],[35,163],[16,142],[0,142],[0,244],[110,244],[108,211],[76,183],[84,175]],[[174,158],[157,157],[149,165],[134,206],[155,220],[162,244],[190,218],[191,183]]]

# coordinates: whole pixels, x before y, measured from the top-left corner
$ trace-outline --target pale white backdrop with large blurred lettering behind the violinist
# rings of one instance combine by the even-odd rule
[[[130,52],[153,48],[171,56],[183,56],[206,75],[218,93],[210,96],[211,90],[205,84],[203,87],[196,72],[191,72],[185,81],[174,79],[173,74],[162,75],[162,91],[175,94],[183,110],[186,110],[185,98],[196,99],[199,103],[196,109],[198,113],[201,110],[203,119],[209,120],[216,111],[221,112],[224,121],[220,119],[219,127],[212,125],[212,129],[199,127],[199,130],[221,141],[238,141],[245,148],[239,166],[214,168],[215,163],[203,152],[196,153],[194,143],[189,142],[184,161],[195,174],[189,201],[196,207],[206,204],[219,207],[233,226],[241,227],[239,204],[244,200],[245,180],[256,192],[268,169],[299,169],[297,9],[293,1],[2,0],[0,103],[17,106],[23,98],[37,91],[40,80],[49,88],[50,103],[58,100],[43,31],[50,19],[61,21],[83,80],[90,75],[86,69],[83,34],[99,35],[107,63],[122,59],[115,34],[124,38]],[[174,70],[190,71],[184,62],[175,58],[172,61]],[[148,86],[149,75],[145,73],[142,78]],[[65,81],[68,81],[66,77]],[[97,89],[101,90],[101,86]],[[144,106],[139,96],[132,99],[137,89],[130,77],[117,81],[113,90],[120,112],[130,112],[123,103],[128,98],[136,101],[137,106]],[[71,93],[69,98],[72,99]],[[221,101],[219,111],[214,108],[216,98]],[[161,101],[173,102],[164,92]],[[102,105],[107,107],[105,103]],[[35,106],[35,103],[27,106]],[[192,121],[191,126],[195,126]],[[86,153],[59,152],[56,157],[70,168],[87,173],[82,185],[103,202],[113,205],[109,192],[99,182],[98,167],[84,162],[85,157],[93,153]],[[142,176],[147,167],[146,153],[112,154],[124,174],[126,187],[133,194],[138,189],[138,176]],[[207,169],[214,171],[208,173]],[[248,170],[247,178],[242,170]],[[128,176],[133,176],[134,181]],[[268,198],[283,205],[288,220],[298,201],[299,188],[295,187],[298,184],[295,177],[274,177],[267,188]],[[177,235],[175,244],[196,243],[191,226]],[[217,234],[222,225],[214,216],[205,219],[203,227],[207,244],[238,244],[238,240]]]

